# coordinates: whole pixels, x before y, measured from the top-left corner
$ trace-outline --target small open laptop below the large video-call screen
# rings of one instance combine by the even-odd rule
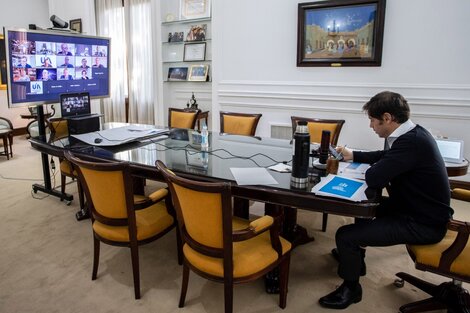
[[[90,94],[88,92],[67,93],[60,95],[60,112],[62,118],[87,118],[98,116],[91,114]]]

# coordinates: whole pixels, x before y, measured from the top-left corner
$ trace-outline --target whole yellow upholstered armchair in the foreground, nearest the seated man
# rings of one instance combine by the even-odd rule
[[[190,269],[224,284],[225,313],[230,313],[234,284],[258,279],[279,266],[279,306],[285,308],[291,244],[279,236],[279,220],[233,217],[230,183],[192,181],[176,176],[161,161],[156,165],[170,188],[182,237],[179,307],[184,306]]]

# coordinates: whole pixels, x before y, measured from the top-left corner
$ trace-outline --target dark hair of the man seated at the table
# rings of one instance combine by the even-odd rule
[[[383,114],[390,113],[392,119],[399,124],[410,118],[408,102],[402,95],[391,91],[382,91],[376,94],[369,102],[364,104],[362,110],[367,112],[370,117],[378,120],[382,120]]]

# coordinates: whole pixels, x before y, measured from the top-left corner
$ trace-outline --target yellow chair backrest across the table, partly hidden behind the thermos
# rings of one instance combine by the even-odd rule
[[[330,131],[330,143],[336,145],[338,143],[339,134],[343,127],[344,120],[328,120],[320,118],[306,118],[300,116],[291,116],[292,120],[292,135],[295,132],[298,121],[307,121],[308,130],[310,132],[311,142],[321,142],[321,135],[323,130]]]

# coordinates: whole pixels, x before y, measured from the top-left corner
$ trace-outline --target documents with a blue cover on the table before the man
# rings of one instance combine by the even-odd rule
[[[344,176],[328,175],[312,188],[312,192],[319,196],[360,202],[367,200],[366,189],[367,184],[365,181]]]

